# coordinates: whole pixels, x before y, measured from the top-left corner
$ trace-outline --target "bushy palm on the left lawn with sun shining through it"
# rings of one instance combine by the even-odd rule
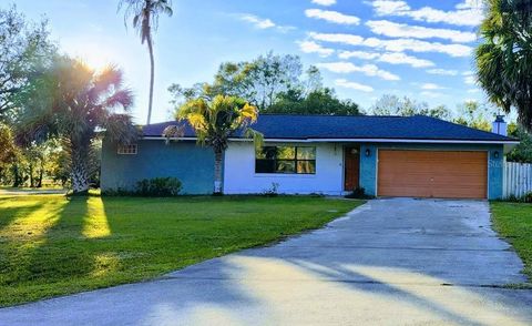
[[[74,193],[89,190],[95,140],[104,135],[130,143],[137,135],[127,114],[133,98],[122,86],[122,72],[115,67],[96,73],[79,60],[61,57],[47,72],[31,80],[22,94],[19,139],[61,139],[69,153]]]

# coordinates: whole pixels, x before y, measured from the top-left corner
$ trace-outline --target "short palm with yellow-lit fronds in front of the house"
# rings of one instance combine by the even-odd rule
[[[193,99],[177,111],[177,120],[186,121],[194,129],[197,143],[214,151],[214,194],[222,194],[222,161],[229,136],[238,133],[260,145],[263,135],[249,128],[257,116],[257,108],[244,99],[227,95],[216,95],[212,101]],[[168,126],[164,135],[170,140],[182,136],[183,131],[183,125]]]

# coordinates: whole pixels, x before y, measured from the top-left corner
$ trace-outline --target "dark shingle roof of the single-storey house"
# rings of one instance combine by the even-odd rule
[[[144,136],[161,136],[176,121],[145,125]],[[376,115],[290,115],[262,114],[252,125],[265,139],[386,139],[386,140],[441,140],[512,142],[514,139],[480,131],[440,119]],[[186,125],[185,137],[194,137]],[[236,132],[235,137],[242,136]]]

